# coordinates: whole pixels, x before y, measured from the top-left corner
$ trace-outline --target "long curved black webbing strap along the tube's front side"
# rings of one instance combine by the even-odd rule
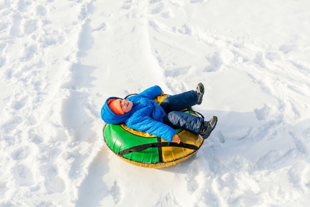
[[[197,151],[199,148],[195,145],[192,144],[186,144],[186,143],[175,143],[175,142],[155,142],[155,143],[148,143],[148,144],[142,144],[142,145],[138,145],[138,146],[133,146],[133,147],[129,147],[125,150],[119,151],[117,154],[118,155],[126,155],[130,152],[138,152],[138,151],[143,151],[146,150],[150,147],[168,147],[168,146],[173,146],[173,147],[183,147],[186,149],[190,149],[190,150],[195,150]]]

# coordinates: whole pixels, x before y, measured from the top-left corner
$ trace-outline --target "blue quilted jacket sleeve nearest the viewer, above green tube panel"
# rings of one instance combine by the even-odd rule
[[[170,126],[139,112],[131,117],[126,125],[132,129],[161,137],[168,142],[171,142],[173,135],[177,134]]]

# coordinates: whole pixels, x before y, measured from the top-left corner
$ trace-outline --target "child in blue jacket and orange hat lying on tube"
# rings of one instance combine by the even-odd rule
[[[102,106],[101,118],[107,124],[124,122],[132,129],[153,134],[168,142],[180,143],[177,132],[171,127],[185,128],[206,139],[215,128],[217,117],[204,121],[204,118],[179,111],[201,104],[203,94],[204,87],[202,83],[198,83],[196,91],[167,97],[158,105],[153,99],[164,95],[164,92],[159,86],[153,86],[127,100],[108,98]]]

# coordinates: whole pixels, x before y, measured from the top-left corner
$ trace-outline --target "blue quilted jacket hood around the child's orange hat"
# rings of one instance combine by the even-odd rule
[[[133,108],[126,114],[124,115],[118,115],[118,114],[115,114],[109,107],[108,105],[108,100],[110,99],[119,99],[118,97],[109,97],[104,105],[102,106],[101,108],[101,118],[104,120],[105,123],[107,124],[120,124],[120,123],[123,123],[126,121],[126,119],[128,119],[132,113],[133,113]],[[122,98],[121,98],[122,99]]]

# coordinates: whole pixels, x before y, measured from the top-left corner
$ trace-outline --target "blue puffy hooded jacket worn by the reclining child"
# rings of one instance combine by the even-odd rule
[[[138,95],[128,97],[127,100],[133,103],[131,110],[124,115],[115,114],[107,102],[109,99],[118,99],[118,97],[109,97],[101,109],[101,118],[107,124],[125,123],[128,127],[153,134],[171,142],[173,135],[177,132],[170,126],[163,123],[162,118],[166,115],[165,111],[153,99],[162,94],[159,86],[153,86],[139,93]]]

